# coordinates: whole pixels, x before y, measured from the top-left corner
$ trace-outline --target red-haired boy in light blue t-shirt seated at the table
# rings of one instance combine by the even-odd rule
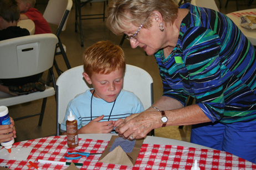
[[[83,76],[93,88],[69,102],[60,129],[66,131],[70,111],[78,121],[78,134],[109,133],[117,119],[143,111],[140,99],[122,90],[124,73],[124,51],[119,46],[99,41],[86,49]]]

